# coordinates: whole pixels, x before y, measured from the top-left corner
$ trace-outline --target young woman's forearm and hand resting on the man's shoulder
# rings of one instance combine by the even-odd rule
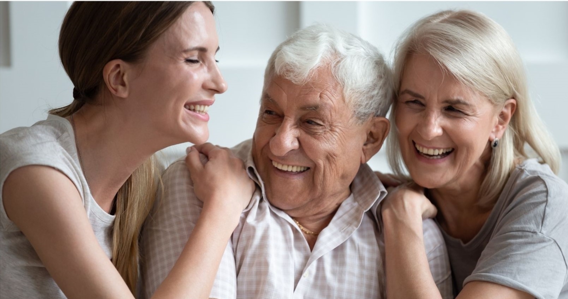
[[[203,209],[179,259],[152,298],[166,294],[179,298],[176,294],[187,289],[198,290],[195,298],[209,296],[227,241],[254,191],[243,161],[228,149],[210,143],[198,148],[208,156],[208,162],[202,164],[199,152],[193,149],[186,165]]]

